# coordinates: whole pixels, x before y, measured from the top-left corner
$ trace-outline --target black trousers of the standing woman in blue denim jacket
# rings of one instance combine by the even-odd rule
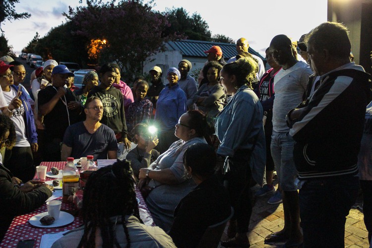
[[[252,215],[249,192],[252,174],[249,167],[251,153],[251,150],[240,149],[235,152],[234,157],[228,157],[230,171],[224,177],[224,185],[229,191],[231,205],[234,208],[232,220],[237,221],[238,233],[248,233]]]

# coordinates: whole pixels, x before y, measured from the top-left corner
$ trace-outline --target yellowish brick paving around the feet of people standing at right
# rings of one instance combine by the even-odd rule
[[[275,181],[274,181],[275,184]],[[259,186],[254,186],[253,190],[258,190]],[[253,213],[249,224],[248,239],[251,248],[281,248],[282,245],[269,246],[264,244],[265,237],[277,231],[284,226],[283,204],[270,205],[267,200],[272,194],[255,198]],[[226,239],[227,228],[222,239]],[[220,246],[221,247],[221,246]],[[368,248],[368,233],[363,222],[363,212],[359,209],[351,209],[345,224],[345,247],[350,248]]]

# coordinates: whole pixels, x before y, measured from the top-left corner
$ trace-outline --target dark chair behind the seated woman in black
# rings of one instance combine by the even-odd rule
[[[233,217],[233,215],[234,209],[231,208],[231,214],[227,219],[207,227],[197,248],[216,248],[220,243],[227,222]]]

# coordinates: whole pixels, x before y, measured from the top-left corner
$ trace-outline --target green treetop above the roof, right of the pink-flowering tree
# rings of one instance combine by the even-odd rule
[[[166,27],[164,35],[182,35],[189,40],[211,41],[211,32],[200,14],[189,16],[184,8],[172,8],[163,12],[171,25]]]

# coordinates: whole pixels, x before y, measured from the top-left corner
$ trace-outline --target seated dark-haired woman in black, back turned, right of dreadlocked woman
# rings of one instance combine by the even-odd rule
[[[214,176],[216,153],[212,146],[197,143],[184,154],[187,177],[197,184],[178,204],[169,235],[178,248],[199,244],[208,226],[227,219],[231,214],[229,194]]]

